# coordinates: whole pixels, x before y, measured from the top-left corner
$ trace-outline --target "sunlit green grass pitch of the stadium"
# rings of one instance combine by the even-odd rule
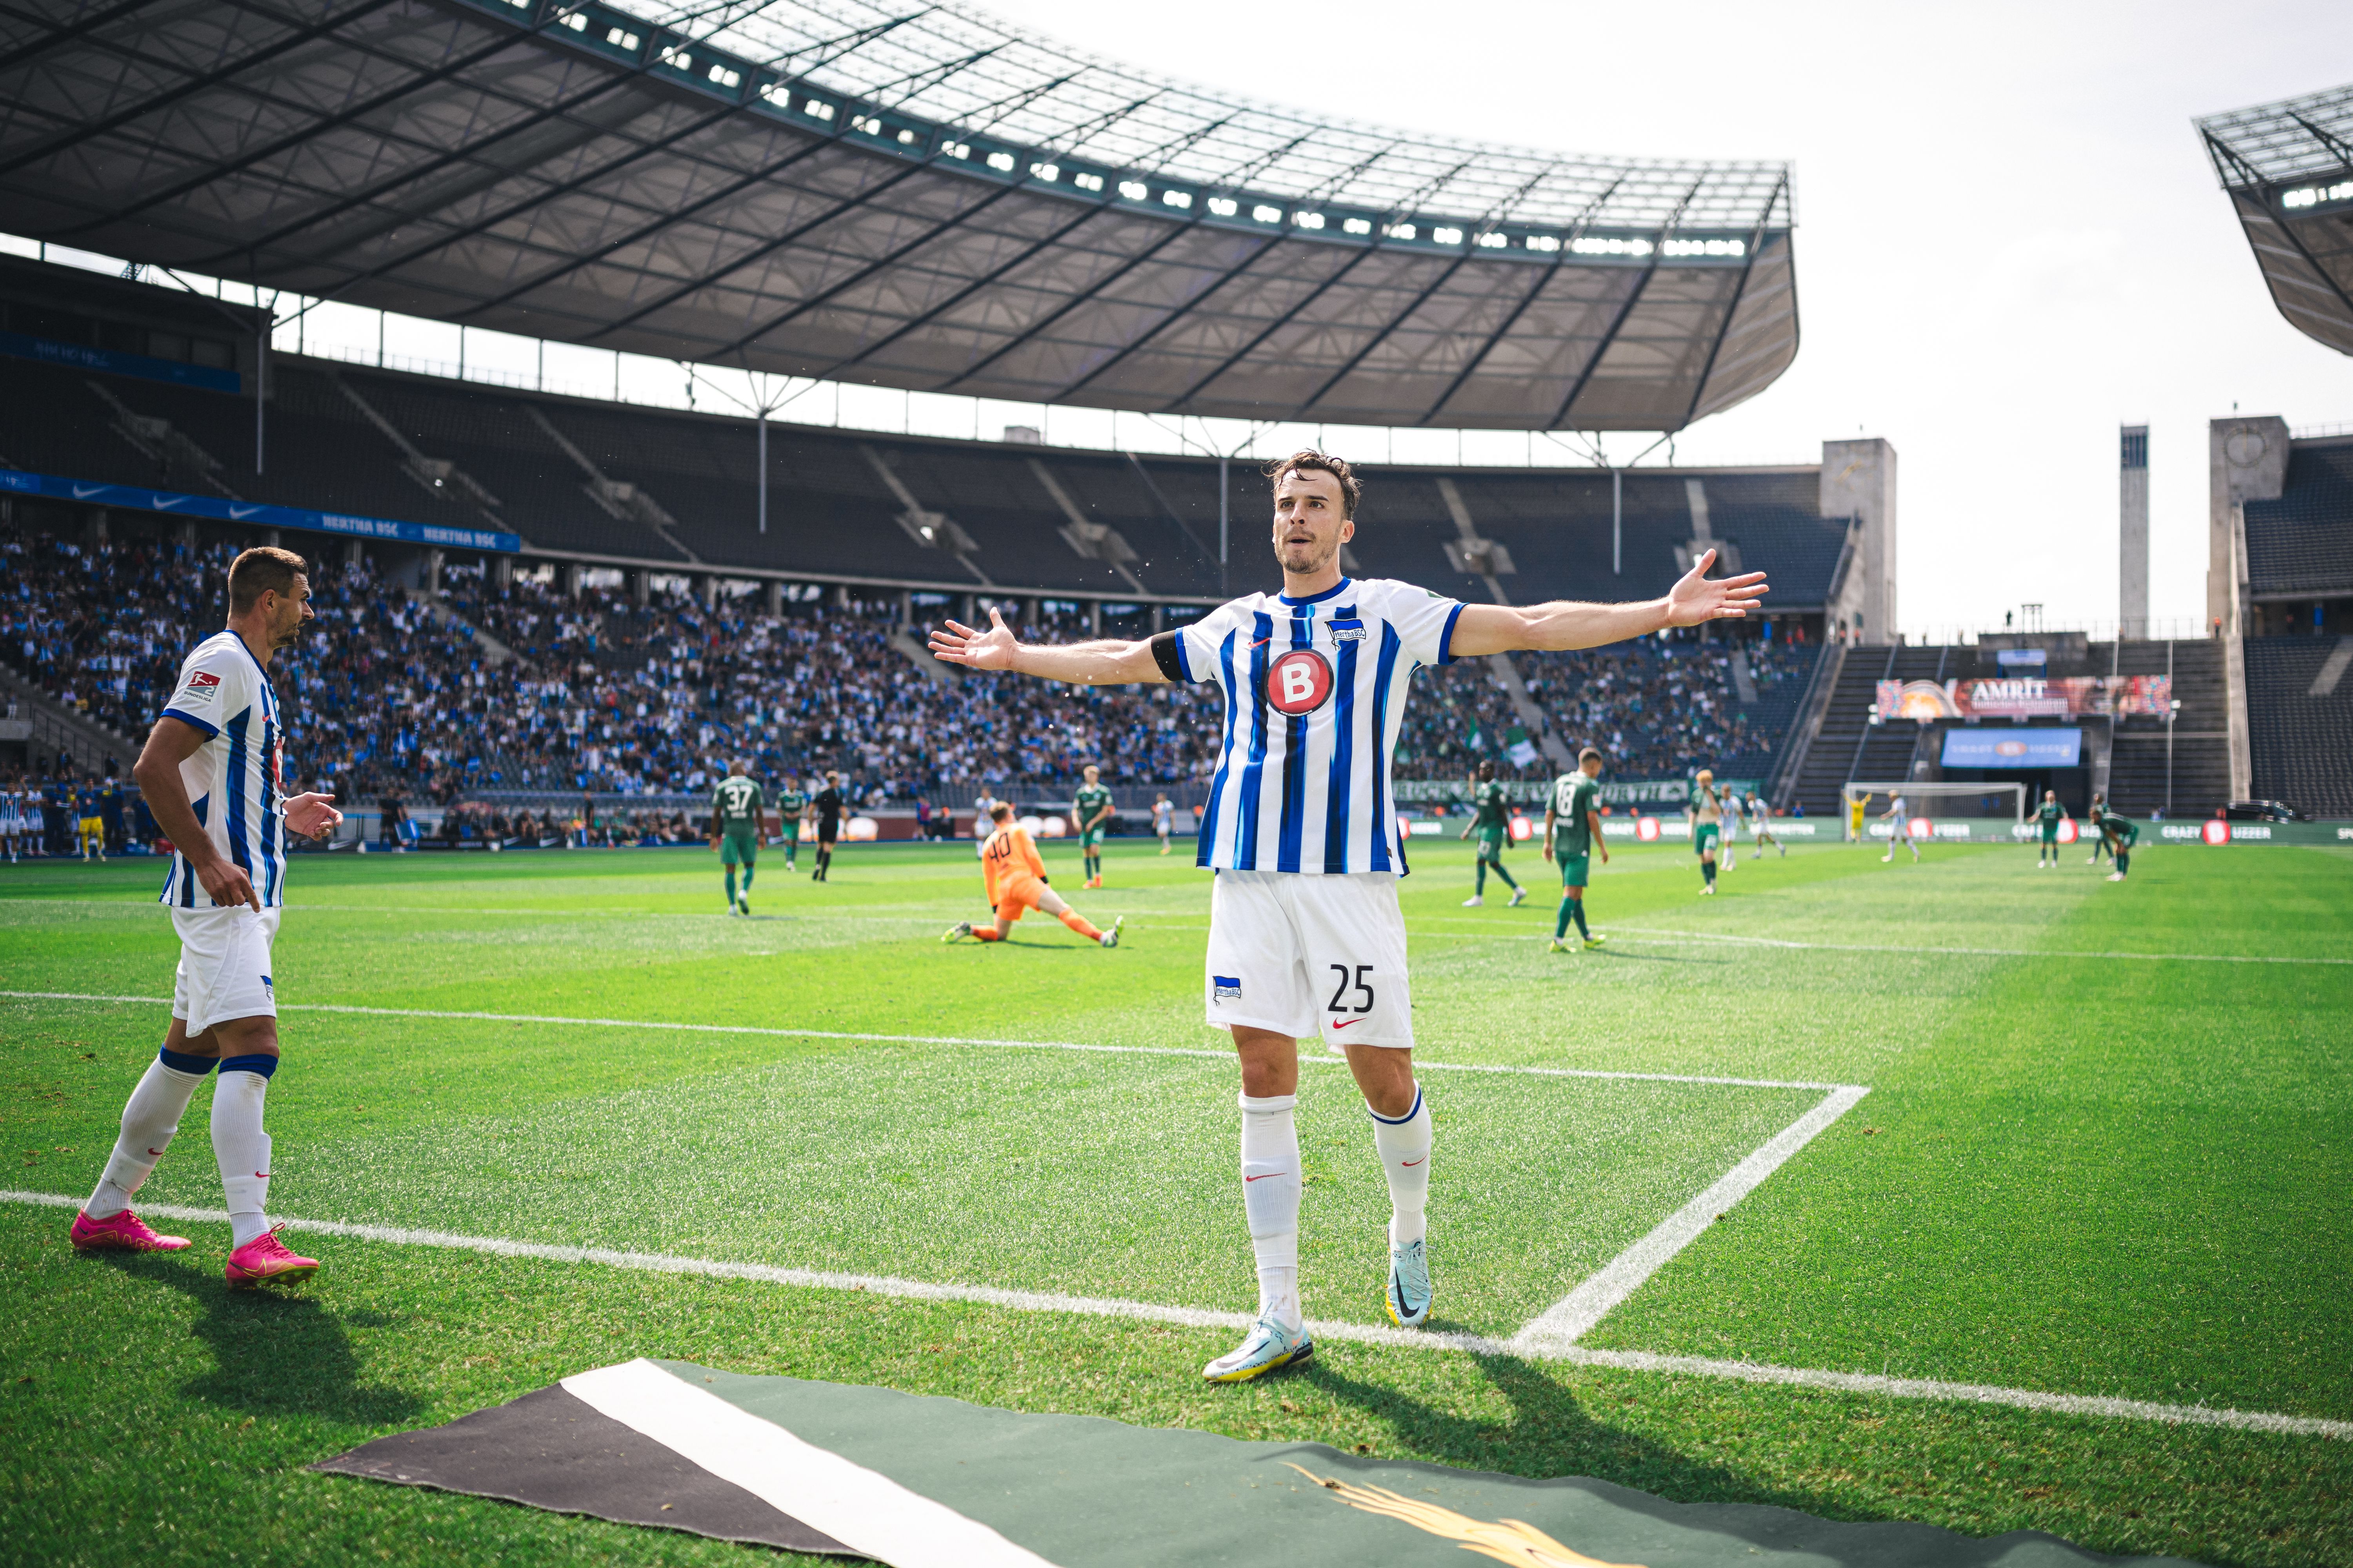
[[[304,858],[275,980],[271,1206],[304,1220],[1247,1309],[1235,1074],[1200,1023],[1207,875],[1113,842],[1056,886],[1125,943],[981,914],[969,846]],[[1871,1093],[1581,1342],[2353,1420],[2353,856],[1800,846],[1697,898],[1626,849],[1591,954],[1532,851],[1464,910],[1414,846],[1445,1328],[1508,1338],[1821,1100]],[[158,867],[0,867],[0,990],[167,997]],[[2195,954],[2169,959],[2087,954]],[[2249,961],[2233,961],[2249,959]],[[2275,961],[2337,959],[2337,961]],[[367,1011],[304,1011],[334,1004]],[[501,1013],[428,1018],[421,1013]],[[515,1018],[525,1018],[518,1023]],[[624,1020],[532,1023],[532,1020]],[[0,1187],[85,1194],[165,1009],[0,997]],[[824,1030],[628,1027],[652,1023]],[[1146,1046],[1087,1053],[962,1041]],[[1207,1051],[1212,1056],[1193,1056]],[[1315,1053],[1315,1046],[1308,1046]],[[1381,1324],[1386,1194],[1346,1072],[1304,1081],[1308,1314]],[[216,1208],[200,1091],[141,1201]],[[308,1286],[75,1258],[0,1201],[0,1556],[115,1563],[741,1561],[654,1530],[304,1472],[638,1354],[1315,1439],[1678,1500],[1779,1502],[2217,1563],[2353,1561],[2353,1441],[1327,1340],[1212,1389],[1226,1328],[299,1237]]]

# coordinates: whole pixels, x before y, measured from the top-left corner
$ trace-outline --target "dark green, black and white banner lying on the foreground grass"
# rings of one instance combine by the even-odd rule
[[[682,1361],[565,1378],[313,1469],[892,1568],[1459,1568],[1464,1552],[1520,1568],[2118,1561],[2024,1530],[1988,1542],[1678,1505],[1607,1481],[1522,1481]]]

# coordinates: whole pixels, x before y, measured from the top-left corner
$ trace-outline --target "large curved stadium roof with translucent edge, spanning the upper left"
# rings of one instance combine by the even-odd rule
[[[0,12],[0,205],[628,353],[1231,418],[1678,430],[1798,353],[1781,162],[1242,103],[920,0]]]

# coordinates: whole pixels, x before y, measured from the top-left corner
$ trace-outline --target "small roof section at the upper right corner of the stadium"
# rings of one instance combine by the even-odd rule
[[[2198,122],[2271,299],[2353,355],[2353,87]]]

